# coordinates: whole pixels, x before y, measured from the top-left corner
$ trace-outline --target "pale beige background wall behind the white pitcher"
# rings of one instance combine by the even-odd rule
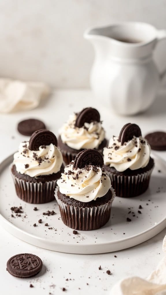
[[[89,26],[144,21],[166,28],[166,0],[0,0],[0,75],[89,87]],[[166,41],[155,58],[166,65]]]

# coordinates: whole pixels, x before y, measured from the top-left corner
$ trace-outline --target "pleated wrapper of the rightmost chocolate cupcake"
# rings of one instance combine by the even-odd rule
[[[153,168],[154,166],[149,171],[132,176],[121,176],[109,171],[106,173],[111,179],[116,196],[130,198],[139,196],[147,190]]]

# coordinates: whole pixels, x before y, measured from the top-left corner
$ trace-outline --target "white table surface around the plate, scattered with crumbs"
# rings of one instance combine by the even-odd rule
[[[17,123],[20,120],[30,117],[42,119],[47,128],[57,135],[59,127],[68,115],[86,106],[96,107],[100,111],[107,138],[119,135],[121,127],[128,122],[139,124],[143,135],[149,131],[166,129],[166,92],[164,91],[158,95],[146,113],[119,117],[108,106],[96,101],[89,90],[58,90],[49,99],[43,100],[37,109],[0,115],[0,161],[16,151],[22,140],[27,139],[17,132]],[[158,152],[158,155],[166,159],[166,152]],[[146,278],[155,269],[163,256],[162,240],[165,233],[166,230],[163,230],[149,241],[126,250],[107,254],[77,255],[56,253],[27,244],[0,226],[0,294],[110,294],[111,287],[118,280],[127,276]],[[11,276],[6,271],[6,262],[12,255],[18,253],[38,255],[44,264],[42,272],[29,279]],[[100,265],[102,269],[98,270]],[[112,275],[106,273],[108,269]],[[34,288],[29,287],[30,283]],[[67,291],[63,292],[63,287]]]

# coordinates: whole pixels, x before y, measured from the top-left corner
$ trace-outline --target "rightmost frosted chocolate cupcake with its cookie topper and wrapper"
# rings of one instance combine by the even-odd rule
[[[142,137],[138,125],[124,125],[119,138],[113,136],[110,139],[103,155],[104,168],[116,196],[129,198],[147,190],[154,160],[150,157],[150,145]]]

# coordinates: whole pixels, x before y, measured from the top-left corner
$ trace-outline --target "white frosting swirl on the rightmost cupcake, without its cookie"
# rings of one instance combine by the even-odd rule
[[[133,137],[132,140],[121,145],[118,137],[112,137],[108,148],[104,148],[104,164],[123,172],[126,169],[136,170],[144,168],[149,163],[150,145],[142,136]]]

